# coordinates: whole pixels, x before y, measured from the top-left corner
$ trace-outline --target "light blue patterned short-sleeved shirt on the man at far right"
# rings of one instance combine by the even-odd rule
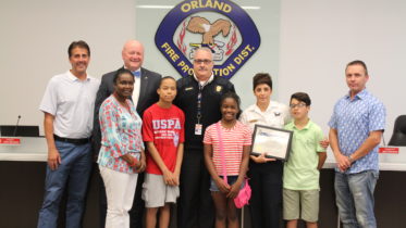
[[[343,155],[353,154],[374,130],[384,130],[386,111],[381,101],[364,89],[350,100],[349,93],[334,106],[329,126],[337,130],[339,147]],[[379,170],[378,145],[357,160],[347,174]],[[339,170],[339,169],[336,169]]]

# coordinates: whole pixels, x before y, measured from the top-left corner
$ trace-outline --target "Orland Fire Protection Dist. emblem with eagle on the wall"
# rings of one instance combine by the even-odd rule
[[[182,76],[193,74],[194,51],[213,52],[216,75],[231,78],[258,50],[260,36],[249,15],[229,0],[186,0],[163,18],[158,49]]]

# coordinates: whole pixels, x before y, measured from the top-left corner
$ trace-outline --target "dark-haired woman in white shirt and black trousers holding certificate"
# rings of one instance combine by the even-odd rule
[[[248,106],[239,121],[251,130],[256,124],[283,128],[291,121],[288,106],[271,101],[272,79],[267,73],[254,76],[254,94],[257,102]],[[250,214],[253,228],[279,228],[282,211],[283,163],[263,154],[250,156],[249,183],[253,189]]]

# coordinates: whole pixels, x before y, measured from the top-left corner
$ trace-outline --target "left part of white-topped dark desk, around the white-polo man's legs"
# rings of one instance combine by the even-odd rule
[[[44,199],[48,147],[45,138],[22,137],[20,145],[0,145],[0,227],[36,227]],[[99,178],[89,180],[84,227],[98,227]],[[62,202],[65,199],[62,199]],[[59,214],[64,227],[64,207]]]

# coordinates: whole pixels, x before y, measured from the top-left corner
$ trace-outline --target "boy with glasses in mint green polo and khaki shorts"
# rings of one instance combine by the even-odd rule
[[[291,97],[293,121],[285,129],[293,131],[293,139],[283,170],[283,219],[287,220],[286,228],[296,228],[299,218],[306,221],[307,228],[317,228],[319,217],[319,177],[327,153],[320,144],[324,138],[322,130],[308,117],[310,103],[305,92]]]

